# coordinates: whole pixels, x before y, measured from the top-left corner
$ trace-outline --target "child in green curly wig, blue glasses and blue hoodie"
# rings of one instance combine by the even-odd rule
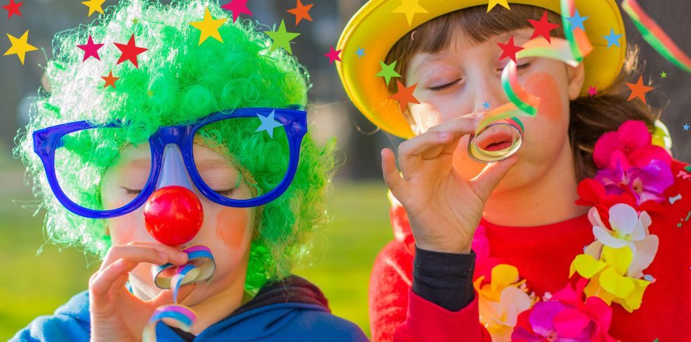
[[[15,155],[50,241],[103,262],[12,341],[366,341],[291,274],[334,167],[292,56],[216,0],[125,0],[45,72]]]

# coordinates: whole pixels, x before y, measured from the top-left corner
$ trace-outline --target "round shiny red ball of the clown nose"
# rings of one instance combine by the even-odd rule
[[[178,246],[190,241],[202,227],[204,209],[195,193],[184,186],[164,186],[144,205],[144,223],[154,239]]]

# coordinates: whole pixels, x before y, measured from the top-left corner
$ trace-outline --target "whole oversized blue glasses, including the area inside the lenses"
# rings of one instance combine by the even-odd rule
[[[117,131],[124,131],[124,128],[126,126],[119,120],[103,125],[77,121],[34,132],[34,151],[43,163],[48,183],[56,198],[69,211],[88,218],[112,218],[128,214],[143,205],[156,190],[164,150],[169,144],[179,147],[191,181],[209,200],[227,207],[265,205],[284,193],[295,177],[302,138],[307,132],[307,119],[302,106],[290,106],[288,109],[240,108],[232,112],[209,114],[191,125],[161,127],[149,137],[149,151],[133,149],[124,158],[128,160],[119,158],[122,149],[98,149],[98,141],[113,139],[119,134]],[[228,135],[240,135],[242,139],[242,143],[237,144],[242,146],[228,144],[230,146],[223,147],[230,154],[228,165],[235,167],[224,169],[223,165],[219,166],[223,163],[217,159],[202,160],[202,156],[195,156],[197,152],[193,146],[199,137],[223,141]],[[129,147],[132,148],[132,144]],[[107,160],[104,154],[114,154],[114,158],[119,158],[117,166],[103,165]],[[257,170],[262,174],[244,174],[242,165],[255,159],[259,160]],[[121,172],[124,175],[119,179],[129,183],[121,184],[117,191],[123,192],[120,197],[125,200],[105,205],[101,202],[105,200],[94,200],[93,193],[85,194],[79,188],[84,179],[89,179],[89,171],[75,168],[98,163],[102,164],[102,168],[107,168],[107,172]],[[128,166],[121,167],[125,163]],[[229,174],[223,170],[231,171]],[[235,174],[232,170],[235,170]],[[86,176],[84,172],[87,172]],[[257,179],[260,177],[265,179]],[[248,178],[250,181],[247,181]],[[241,179],[254,187],[252,195],[234,193]],[[104,198],[103,194],[98,196]]]

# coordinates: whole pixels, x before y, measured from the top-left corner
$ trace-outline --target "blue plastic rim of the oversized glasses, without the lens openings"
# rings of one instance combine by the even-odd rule
[[[195,168],[194,157],[192,152],[193,139],[195,133],[207,124],[223,119],[237,118],[237,117],[257,117],[261,114],[267,117],[271,112],[274,112],[274,119],[283,124],[285,134],[288,136],[288,145],[290,148],[290,161],[288,163],[288,171],[281,183],[272,191],[260,195],[258,198],[250,200],[233,200],[218,195],[211,190],[200,176],[197,168]],[[300,156],[300,146],[302,138],[307,133],[307,113],[304,108],[299,105],[290,106],[288,109],[283,108],[239,108],[232,112],[216,112],[209,114],[207,117],[199,119],[194,124],[187,126],[164,126],[158,129],[156,133],[149,137],[149,145],[151,147],[151,170],[149,171],[149,179],[147,184],[142,189],[142,192],[128,205],[118,209],[112,210],[94,210],[84,208],[77,205],[70,200],[68,196],[62,191],[59,186],[57,176],[55,174],[55,150],[63,145],[62,137],[66,134],[76,131],[82,131],[90,128],[121,128],[122,122],[117,120],[111,124],[97,125],[90,124],[87,121],[76,121],[69,124],[61,124],[48,128],[43,128],[34,131],[34,152],[38,154],[45,174],[48,179],[48,184],[52,188],[53,193],[69,211],[88,218],[112,218],[128,214],[144,204],[149,198],[149,195],[154,192],[158,182],[158,176],[161,172],[161,165],[163,163],[163,148],[167,144],[177,144],[182,152],[182,158],[188,174],[190,175],[193,184],[198,188],[202,195],[205,195],[209,200],[224,205],[226,207],[257,207],[265,205],[272,200],[275,200],[285,192],[290,186],[292,179],[295,177],[297,165]]]

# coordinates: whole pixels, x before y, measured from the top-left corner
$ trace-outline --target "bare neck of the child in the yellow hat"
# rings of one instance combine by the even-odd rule
[[[496,225],[534,227],[581,216],[588,207],[576,205],[579,198],[574,161],[568,141],[550,169],[528,186],[493,193],[483,217]]]

